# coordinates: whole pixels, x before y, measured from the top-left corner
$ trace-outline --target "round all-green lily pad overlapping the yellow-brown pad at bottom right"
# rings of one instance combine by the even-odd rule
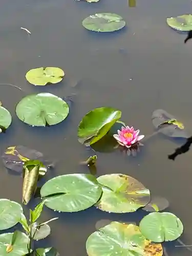
[[[139,228],[144,237],[156,243],[176,240],[183,232],[182,222],[170,212],[151,212],[141,220]]]

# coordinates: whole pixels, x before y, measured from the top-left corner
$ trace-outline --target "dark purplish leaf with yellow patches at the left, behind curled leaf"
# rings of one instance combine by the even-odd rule
[[[23,165],[29,160],[38,160],[44,163],[44,165],[41,165],[39,168],[39,175],[45,175],[47,168],[52,164],[44,158],[42,153],[22,145],[9,146],[6,148],[2,159],[6,168],[17,173],[23,172]]]

